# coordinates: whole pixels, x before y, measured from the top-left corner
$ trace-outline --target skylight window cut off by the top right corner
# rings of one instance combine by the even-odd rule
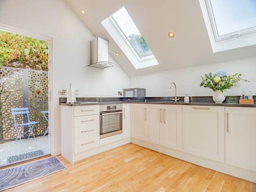
[[[213,52],[256,44],[255,0],[199,0]]]

